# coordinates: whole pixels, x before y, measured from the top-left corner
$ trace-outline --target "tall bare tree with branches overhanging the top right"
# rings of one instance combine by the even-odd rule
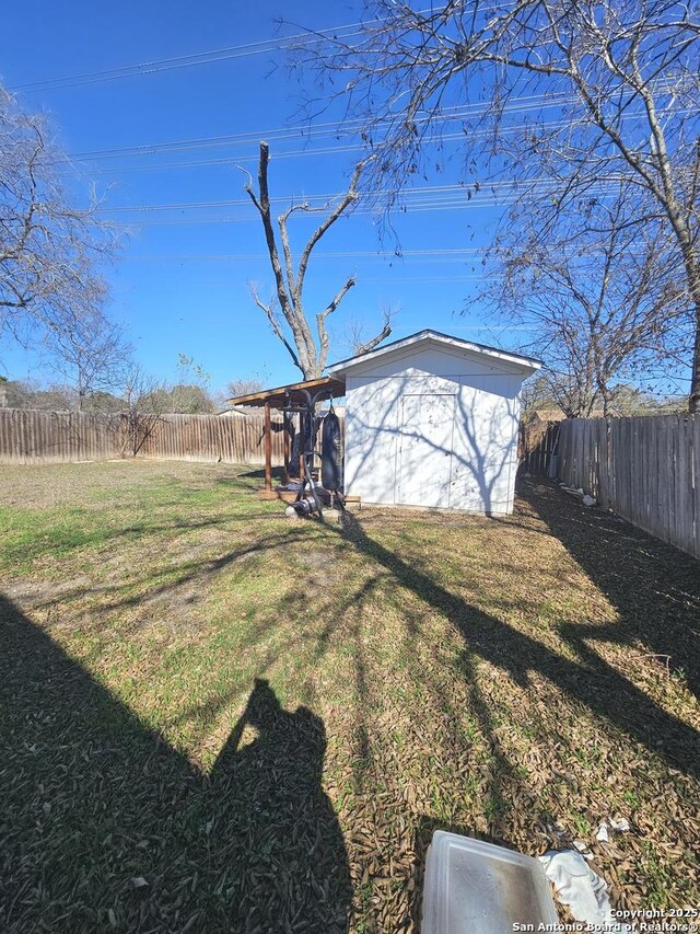
[[[700,410],[700,16],[674,0],[375,0],[351,44],[319,36],[304,65],[364,118],[375,172],[400,187],[456,101],[469,158],[487,155],[551,214],[609,181],[639,187],[637,220],[663,222],[695,313],[689,408]],[[520,129],[512,103],[539,106]],[[476,115],[476,116],[474,116]],[[492,164],[494,164],[492,162]]]

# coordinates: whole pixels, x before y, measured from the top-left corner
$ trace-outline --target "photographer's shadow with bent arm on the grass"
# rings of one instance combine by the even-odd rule
[[[246,741],[249,740],[249,741]],[[345,842],[322,788],[326,731],[306,707],[285,711],[256,678],[210,775],[218,802],[212,843],[231,849],[242,930],[348,930]]]

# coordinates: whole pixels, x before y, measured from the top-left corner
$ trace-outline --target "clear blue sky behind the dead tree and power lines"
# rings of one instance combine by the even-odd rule
[[[5,35],[13,42],[3,49],[0,80],[16,89],[26,109],[49,115],[63,148],[77,157],[82,177],[69,184],[78,196],[95,181],[106,216],[129,229],[120,258],[107,270],[110,310],[138,359],[159,378],[175,376],[178,353],[192,356],[211,374],[213,388],[255,376],[271,384],[298,378],[249,297],[249,281],[265,296],[272,279],[260,222],[246,204],[244,176],[235,166],[255,172],[257,141],[268,139],[270,189],[282,198],[280,208],[347,185],[359,155],[351,150],[357,139],[338,138],[332,123],[315,126],[311,139],[300,129],[300,101],[311,81],[305,85],[290,74],[276,46],[292,30],[280,31],[276,21],[325,28],[353,23],[358,13],[353,4],[316,0],[199,5],[122,0],[109,8],[71,0],[15,3],[5,11]],[[206,65],[175,62],[178,67],[63,88],[23,87],[257,42],[267,45]],[[212,137],[235,138],[192,142]],[[183,145],[148,151],[174,142]],[[107,152],[127,148],[147,151]],[[453,186],[460,150],[453,148],[452,157],[442,174],[420,184]],[[499,328],[478,303],[465,303],[479,285],[481,251],[498,218],[488,207],[488,191],[469,203],[450,187],[416,197],[420,207],[396,218],[402,258],[392,255],[394,241],[381,241],[376,217],[362,211],[342,219],[317,247],[307,276],[308,312],[323,307],[348,275],[358,279],[334,322],[331,357],[348,355],[348,322],[366,324],[369,336],[385,305],[400,308],[393,337],[434,327],[512,349],[523,346],[526,333]],[[211,201],[241,204],[202,206]],[[180,207],[154,209],[162,205]],[[295,245],[307,232],[303,220],[292,228]],[[40,356],[32,351],[11,351],[3,366],[12,378],[43,372]]]

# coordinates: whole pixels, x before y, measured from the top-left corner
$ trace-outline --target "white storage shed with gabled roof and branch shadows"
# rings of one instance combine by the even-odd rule
[[[539,366],[420,331],[328,367],[346,381],[346,494],[362,503],[512,512],[521,385]]]

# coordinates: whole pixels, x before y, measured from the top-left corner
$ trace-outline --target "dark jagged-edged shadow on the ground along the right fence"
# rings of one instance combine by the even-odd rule
[[[595,653],[584,639],[656,654],[669,669],[682,669],[700,696],[700,563],[616,516],[586,509],[551,481],[523,477],[518,493],[619,614],[605,626],[562,626],[562,637],[588,658]]]

